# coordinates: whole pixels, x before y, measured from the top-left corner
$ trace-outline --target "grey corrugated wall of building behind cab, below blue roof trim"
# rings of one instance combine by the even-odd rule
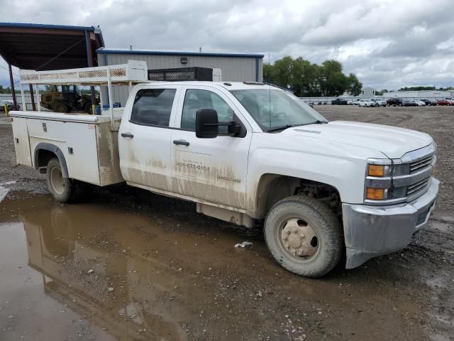
[[[211,56],[185,56],[187,64],[180,62],[179,55],[134,55],[134,54],[98,54],[98,65],[126,64],[128,60],[143,60],[147,63],[148,69],[167,69],[172,67],[212,67],[219,68],[222,72],[222,80],[226,82],[243,82],[263,79],[262,58],[250,57],[211,57]],[[256,67],[258,61],[258,70]],[[126,104],[128,99],[128,87],[113,87],[115,102]],[[104,95],[104,91],[103,91]]]

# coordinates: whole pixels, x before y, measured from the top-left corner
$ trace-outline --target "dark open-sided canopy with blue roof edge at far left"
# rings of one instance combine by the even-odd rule
[[[11,65],[37,71],[92,67],[97,66],[94,51],[101,47],[101,29],[93,26],[0,23],[0,55],[9,64],[15,107]]]

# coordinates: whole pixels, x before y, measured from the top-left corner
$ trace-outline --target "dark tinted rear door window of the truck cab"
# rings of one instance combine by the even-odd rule
[[[143,89],[135,94],[131,122],[169,126],[175,89]]]

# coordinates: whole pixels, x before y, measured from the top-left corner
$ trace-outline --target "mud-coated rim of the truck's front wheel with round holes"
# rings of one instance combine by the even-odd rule
[[[294,261],[312,261],[320,251],[319,234],[301,217],[291,217],[280,224],[279,242],[284,253]]]

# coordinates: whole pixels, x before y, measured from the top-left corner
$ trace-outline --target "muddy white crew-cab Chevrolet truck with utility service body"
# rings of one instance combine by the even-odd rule
[[[46,173],[60,202],[126,181],[262,225],[275,260],[309,277],[343,254],[351,269],[404,249],[435,205],[431,136],[328,122],[276,87],[141,82],[118,114],[116,131],[104,115],[11,112],[17,163]]]

